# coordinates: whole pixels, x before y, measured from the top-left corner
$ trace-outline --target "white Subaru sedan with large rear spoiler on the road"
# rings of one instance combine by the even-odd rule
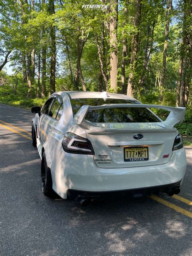
[[[149,108],[170,114],[162,121]],[[85,202],[113,192],[180,192],[186,154],[174,125],[185,108],[107,92],[55,92],[32,113],[46,196]]]

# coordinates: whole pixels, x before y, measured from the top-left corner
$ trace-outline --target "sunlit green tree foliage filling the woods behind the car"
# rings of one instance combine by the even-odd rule
[[[20,4],[19,4],[20,2]],[[85,81],[86,89],[90,91],[103,90],[104,79],[101,75],[100,60],[98,58],[98,47],[96,35],[100,45],[104,72],[108,76],[110,87],[110,48],[109,44],[109,25],[110,25],[110,1],[106,10],[101,9],[82,9],[85,4],[79,1],[55,1],[55,14],[51,15],[48,1],[34,0],[34,9],[31,1],[0,1],[0,55],[4,57],[7,51],[12,50],[10,64],[13,68],[13,75],[6,75],[2,72],[0,76],[6,79],[6,85],[0,87],[0,100],[9,104],[23,107],[31,105],[42,105],[45,99],[29,99],[29,89],[26,82],[23,82],[23,69],[29,70],[28,55],[35,49],[36,69],[35,79],[32,81],[34,96],[37,92],[37,70],[38,56],[40,55],[40,95],[42,83],[42,48],[46,48],[46,92],[50,90],[50,62],[51,62],[51,43],[50,29],[55,26],[56,43],[56,79],[55,87],[57,91],[77,90],[74,85],[75,71],[77,68],[77,42],[82,42],[87,37],[81,55],[81,70]],[[162,59],[164,49],[164,34],[166,22],[166,1],[142,0],[141,23],[138,27],[134,26],[136,15],[136,1],[119,0],[118,6],[118,26],[117,26],[117,51],[118,51],[118,84],[117,91],[122,93],[122,41],[126,40],[127,55],[125,64],[125,86],[128,84],[130,70],[134,75],[134,90],[137,99],[142,103],[155,105],[176,105],[176,83],[178,80],[179,55],[185,52],[189,57],[190,45],[182,45],[183,34],[190,34],[190,15],[184,12],[190,10],[190,1],[177,1],[173,5],[169,24],[169,39],[166,54],[166,72],[162,92],[162,102],[159,102],[159,84],[162,73]],[[103,1],[92,0],[91,4],[102,4]],[[187,12],[188,13],[188,12]],[[189,16],[189,17],[188,17]],[[154,28],[154,34],[152,30]],[[184,30],[184,28],[186,30]],[[149,29],[149,30],[147,30]],[[132,65],[130,56],[132,50],[133,36],[139,31],[139,47],[137,58]],[[147,47],[147,51],[145,52]],[[151,48],[150,48],[151,47]],[[151,51],[151,52],[150,52]],[[149,54],[150,52],[150,54]],[[149,54],[148,66],[144,68],[145,54]],[[23,56],[26,63],[23,63]],[[184,56],[185,57],[185,56]],[[69,59],[70,67],[69,68]],[[4,58],[1,58],[1,62]],[[188,64],[187,75],[190,79],[190,64]],[[71,75],[72,72],[72,75]],[[17,78],[15,74],[17,74]],[[141,77],[144,77],[141,85]],[[18,84],[16,88],[16,83]],[[82,90],[81,78],[79,78],[79,90]],[[109,92],[114,92],[110,88]],[[191,134],[192,102],[189,96],[186,117],[183,124],[177,127],[181,134]],[[165,119],[167,111],[154,109],[154,112]]]

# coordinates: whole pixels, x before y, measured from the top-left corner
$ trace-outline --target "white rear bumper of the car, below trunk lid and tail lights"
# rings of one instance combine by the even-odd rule
[[[166,164],[119,169],[99,168],[92,156],[64,154],[54,156],[52,166],[53,190],[62,198],[67,198],[68,190],[111,192],[157,186],[163,189],[166,185],[180,184],[186,171],[184,148],[173,151]]]

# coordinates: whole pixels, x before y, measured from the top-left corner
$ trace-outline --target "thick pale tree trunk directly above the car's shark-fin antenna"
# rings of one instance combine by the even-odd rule
[[[110,17],[110,85],[114,92],[117,92],[117,70],[118,70],[118,51],[117,51],[117,17],[118,0],[111,0]]]

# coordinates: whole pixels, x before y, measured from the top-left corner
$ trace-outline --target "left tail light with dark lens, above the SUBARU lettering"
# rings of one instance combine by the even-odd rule
[[[62,146],[68,153],[94,155],[90,141],[72,132],[66,132]]]

